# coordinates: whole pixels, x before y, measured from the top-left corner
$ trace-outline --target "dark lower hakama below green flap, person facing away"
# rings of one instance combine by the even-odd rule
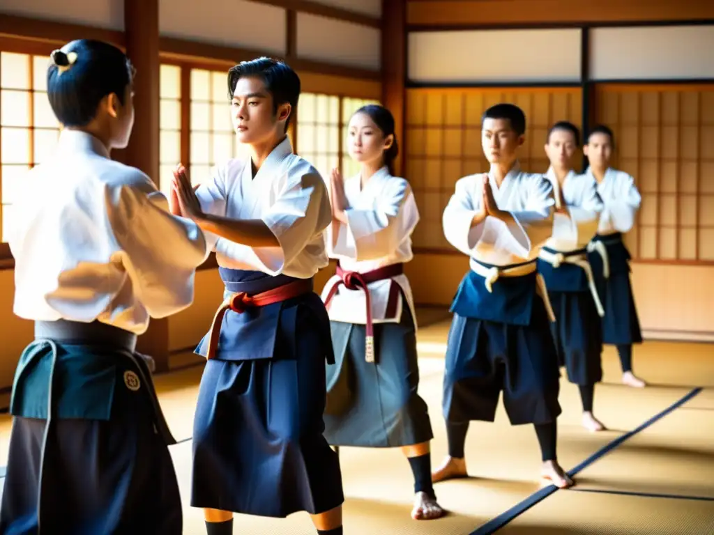
[[[169,449],[145,406],[117,413],[107,422],[54,422],[44,464],[45,421],[14,419],[0,533],[34,534],[41,525],[46,534],[181,535],[181,496]]]

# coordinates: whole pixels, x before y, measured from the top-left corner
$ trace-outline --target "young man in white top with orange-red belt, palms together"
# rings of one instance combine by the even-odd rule
[[[172,208],[216,251],[225,301],[196,352],[206,357],[193,427],[191,505],[208,535],[233,533],[233,513],[308,511],[319,534],[342,534],[337,454],[323,437],[330,320],[313,292],[328,265],[327,187],[286,136],[300,79],[285,63],[228,72],[231,116],[250,156],[219,166],[194,192],[179,165]]]

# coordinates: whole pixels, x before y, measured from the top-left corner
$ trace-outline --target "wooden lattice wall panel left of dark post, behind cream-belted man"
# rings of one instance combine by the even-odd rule
[[[409,89],[406,98],[406,178],[413,186],[421,223],[416,248],[453,251],[441,228],[441,215],[456,181],[488,170],[481,150],[481,116],[486,108],[511,102],[526,113],[521,167],[545,173],[543,145],[555,121],[580,126],[580,88]],[[580,165],[578,162],[577,165]]]

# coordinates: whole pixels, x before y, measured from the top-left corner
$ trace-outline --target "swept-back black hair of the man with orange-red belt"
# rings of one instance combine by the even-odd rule
[[[285,121],[285,130],[287,131],[293,113],[298,108],[298,98],[300,98],[298,73],[284,61],[265,56],[251,61],[241,61],[228,71],[228,99],[233,99],[238,80],[246,76],[256,76],[265,83],[266,91],[273,96],[273,113],[277,113],[278,106],[281,104],[290,104],[290,115]]]

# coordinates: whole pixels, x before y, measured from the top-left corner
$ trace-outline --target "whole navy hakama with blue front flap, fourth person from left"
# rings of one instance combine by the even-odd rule
[[[493,292],[476,272],[461,281],[443,380],[448,422],[493,422],[501,390],[513,425],[547,424],[560,414],[558,357],[536,277],[501,276]]]

